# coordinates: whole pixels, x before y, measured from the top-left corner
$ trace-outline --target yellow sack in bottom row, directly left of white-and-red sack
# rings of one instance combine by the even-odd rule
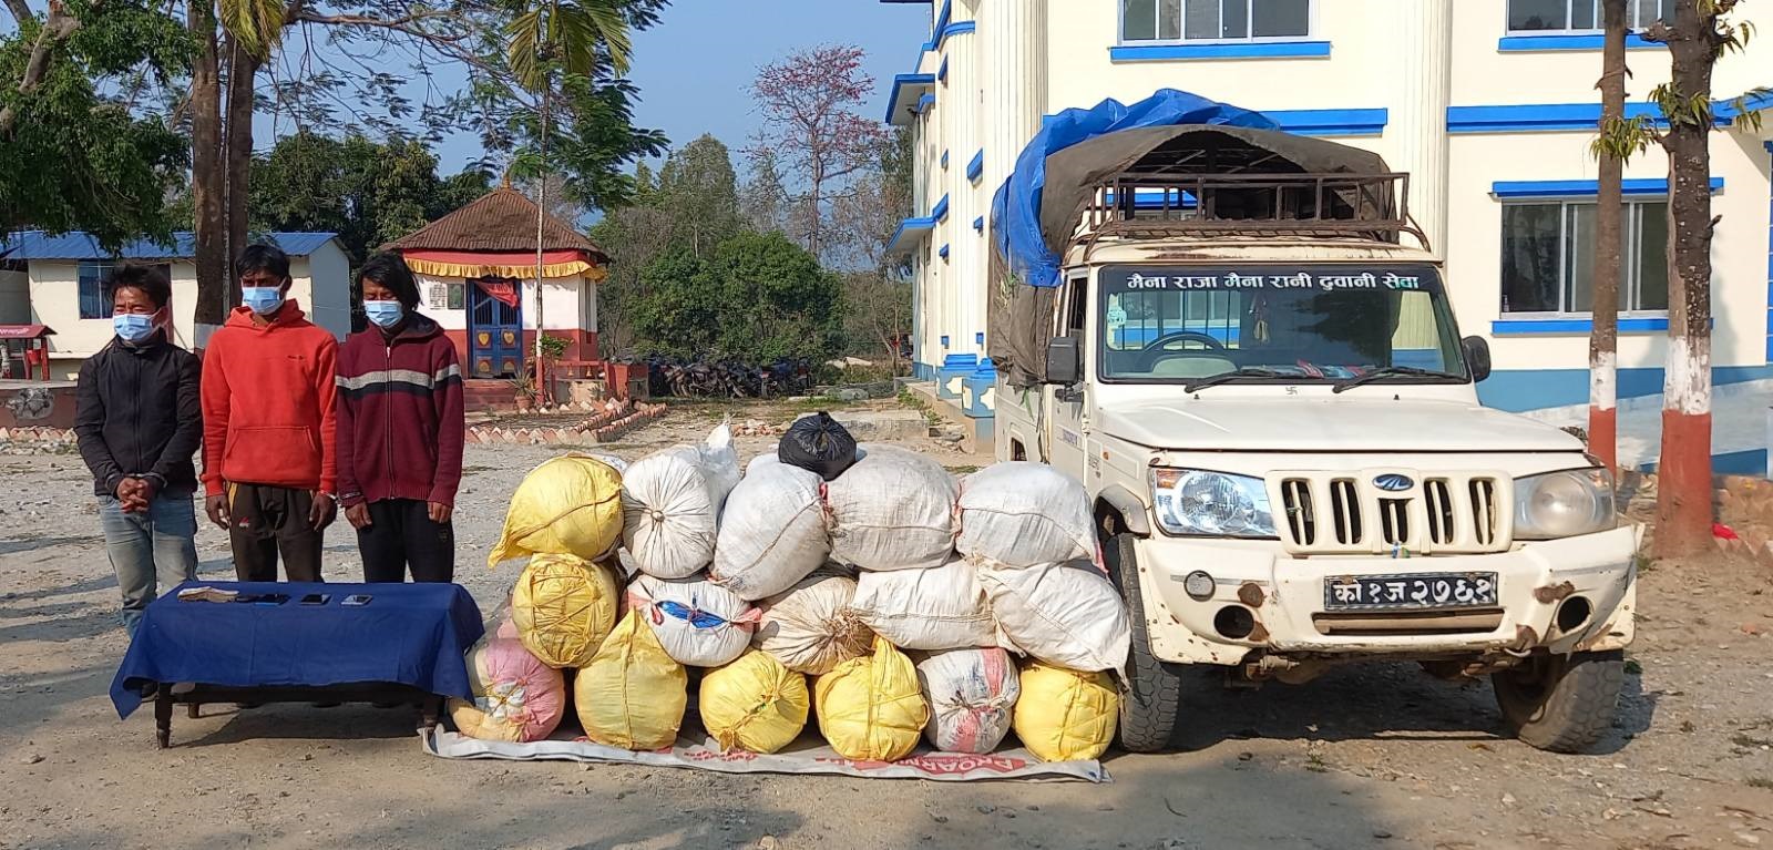
[[[929,720],[917,667],[883,637],[874,639],[874,655],[819,676],[814,692],[824,740],[839,756],[856,761],[910,756]]]

